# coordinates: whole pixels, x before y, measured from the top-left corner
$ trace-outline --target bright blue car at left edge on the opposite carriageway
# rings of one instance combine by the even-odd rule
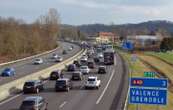
[[[5,68],[2,73],[1,76],[3,77],[10,77],[10,76],[14,76],[16,74],[15,69],[14,68]]]

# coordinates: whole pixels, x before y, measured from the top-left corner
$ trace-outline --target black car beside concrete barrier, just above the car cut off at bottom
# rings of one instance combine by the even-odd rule
[[[43,82],[41,80],[26,81],[23,86],[23,93],[39,93],[44,90]]]

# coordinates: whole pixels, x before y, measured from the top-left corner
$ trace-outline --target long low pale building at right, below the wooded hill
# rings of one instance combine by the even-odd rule
[[[163,38],[153,35],[127,36],[126,40],[134,44],[136,50],[158,50]]]

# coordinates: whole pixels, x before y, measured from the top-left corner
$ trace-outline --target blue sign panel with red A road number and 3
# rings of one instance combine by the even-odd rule
[[[131,78],[130,86],[133,87],[154,87],[154,88],[167,88],[167,79],[156,78]]]

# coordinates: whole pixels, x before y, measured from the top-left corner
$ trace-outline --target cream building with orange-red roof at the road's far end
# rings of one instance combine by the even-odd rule
[[[118,42],[119,37],[112,32],[99,32],[96,41],[99,43]]]

